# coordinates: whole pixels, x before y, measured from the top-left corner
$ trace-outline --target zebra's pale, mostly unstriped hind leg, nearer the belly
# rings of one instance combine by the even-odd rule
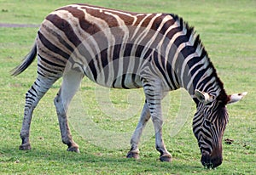
[[[80,82],[84,74],[79,71],[68,71],[63,76],[63,82],[59,93],[55,97],[55,108],[61,129],[61,139],[63,144],[67,144],[68,151],[79,152],[79,145],[73,141],[70,129],[67,122],[68,105],[77,92]]]

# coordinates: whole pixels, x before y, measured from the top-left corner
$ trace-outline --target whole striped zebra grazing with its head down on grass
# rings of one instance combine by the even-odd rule
[[[61,139],[79,152],[67,123],[67,109],[84,76],[108,88],[143,88],[145,103],[126,157],[139,158],[138,144],[151,118],[160,161],[172,161],[162,138],[161,100],[184,88],[195,101],[193,133],[205,167],[222,161],[227,104],[245,93],[228,95],[200,36],[177,14],[131,13],[88,4],[71,4],[50,13],[40,25],[31,52],[12,75],[38,58],[38,76],[26,93],[20,150],[31,150],[32,112],[49,88],[63,77],[54,104]]]

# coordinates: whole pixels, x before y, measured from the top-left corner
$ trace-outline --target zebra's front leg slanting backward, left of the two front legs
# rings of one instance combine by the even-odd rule
[[[143,129],[146,126],[149,118],[150,118],[150,112],[148,109],[148,104],[145,103],[143,106],[143,111],[140,117],[140,121],[138,122],[137,127],[131,137],[131,150],[126,155],[127,158],[135,158],[135,159],[139,158],[138,144],[142,136]]]

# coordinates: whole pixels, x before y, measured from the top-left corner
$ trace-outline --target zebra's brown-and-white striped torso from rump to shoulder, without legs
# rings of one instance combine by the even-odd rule
[[[162,49],[164,35],[170,25],[177,26],[176,20],[170,14],[137,14],[84,4],[59,8],[38,31],[38,72],[61,76],[68,62],[102,86],[141,88],[143,65],[154,62],[150,55]]]

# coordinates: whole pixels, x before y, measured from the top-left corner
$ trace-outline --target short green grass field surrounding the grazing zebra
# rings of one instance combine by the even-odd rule
[[[58,2],[58,3],[56,3]],[[145,133],[140,150],[141,159],[126,159],[131,132],[135,129],[137,116],[113,118],[102,110],[97,87],[84,78],[70,111],[73,138],[80,146],[80,154],[67,152],[61,143],[53,99],[61,81],[44,96],[34,111],[31,127],[32,150],[20,151],[20,127],[23,119],[25,93],[36,78],[36,62],[17,77],[9,71],[20,64],[29,52],[38,28],[0,28],[0,174],[254,174],[256,173],[256,1],[253,0],[87,0],[75,3],[90,3],[108,8],[119,8],[134,12],[165,12],[179,14],[201,35],[208,54],[228,93],[247,91],[247,97],[228,107],[229,125],[224,139],[232,144],[223,144],[223,164],[213,170],[201,166],[200,150],[192,133],[195,105],[177,134],[173,132],[172,118],[177,115],[180,91],[171,92],[171,109],[166,117],[164,138],[166,147],[173,156],[172,163],[158,161],[159,153],[154,149],[154,134]],[[0,23],[39,25],[44,17],[62,5],[74,1],[18,1],[0,0]],[[107,89],[103,91],[109,92]],[[127,99],[132,94],[143,104],[142,91],[110,90],[111,109],[127,109]],[[98,96],[97,96],[98,95]],[[130,96],[129,96],[130,95]],[[136,101],[136,100],[131,100]],[[192,102],[191,102],[192,103]],[[108,105],[105,106],[108,110]],[[86,110],[84,112],[84,110]],[[72,113],[74,111],[74,113]],[[83,114],[84,112],[84,114]],[[129,111],[124,110],[124,113]],[[103,138],[93,138],[94,133],[77,126],[78,115],[88,116],[93,125],[102,131]],[[125,116],[125,114],[124,114]],[[86,120],[86,119],[82,119]],[[81,129],[81,130],[80,130]],[[83,130],[84,129],[84,130]],[[81,133],[84,131],[85,133]],[[87,133],[86,133],[87,132]],[[153,131],[151,131],[153,132]],[[174,131],[175,132],[175,131]],[[108,135],[110,134],[110,136]],[[113,133],[124,136],[114,138]],[[122,134],[124,133],[124,134]],[[91,134],[91,135],[90,135]],[[101,133],[96,133],[101,134]],[[91,136],[91,138],[90,138]],[[106,137],[105,137],[106,136]],[[105,137],[105,138],[104,138]],[[88,139],[87,139],[88,138]],[[101,141],[101,139],[103,141]],[[109,144],[108,142],[112,143]],[[107,143],[107,146],[106,146]]]

